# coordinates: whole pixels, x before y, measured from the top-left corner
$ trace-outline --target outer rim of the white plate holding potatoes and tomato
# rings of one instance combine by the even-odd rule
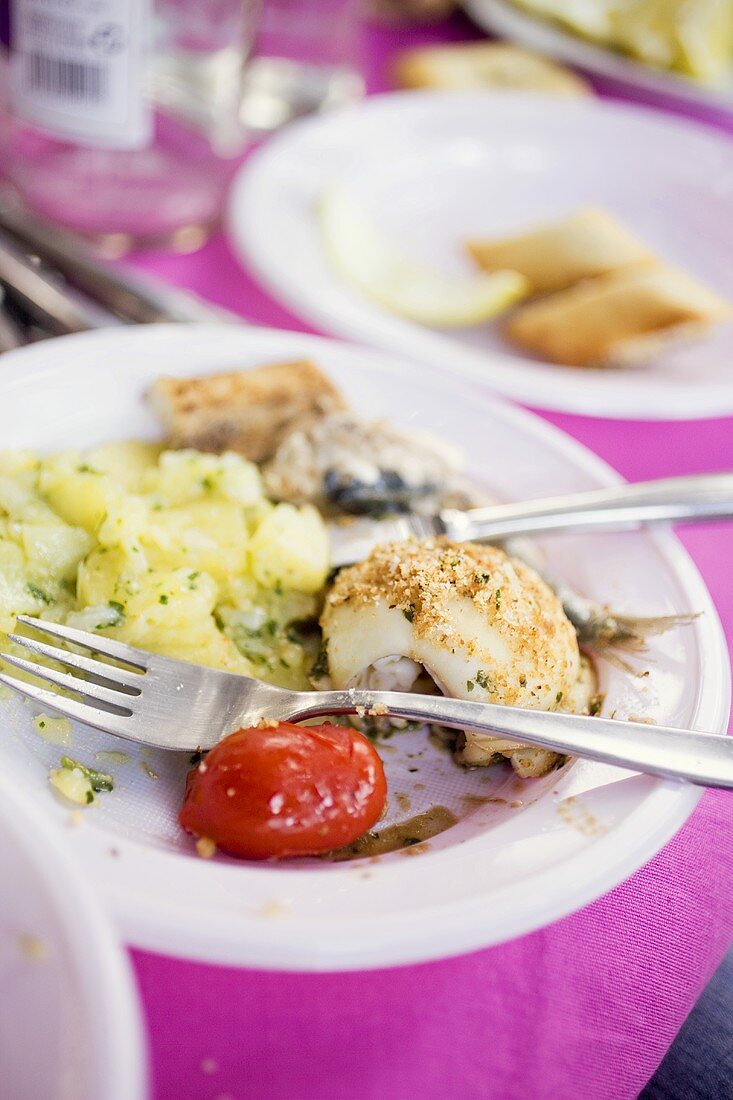
[[[103,344],[106,341],[120,339],[130,345],[147,341],[154,343],[155,340],[161,340],[165,344],[172,338],[174,342],[175,340],[187,342],[186,338],[187,333],[190,332],[190,326],[183,327],[175,324],[150,326],[123,331],[118,329],[113,330],[113,332],[110,332],[110,330],[98,330],[63,337],[59,338],[63,344],[59,344],[59,341],[55,341],[55,354],[61,355],[63,360],[67,354],[73,354],[74,348],[80,343],[94,348],[95,344]],[[379,363],[382,370],[387,367],[393,372],[403,373],[407,371],[413,376],[425,377],[426,375],[424,366],[404,356],[380,350],[365,349],[358,344],[349,344],[344,341],[331,340],[324,337],[250,326],[243,326],[239,329],[239,327],[231,324],[198,324],[195,328],[199,334],[210,334],[209,339],[211,340],[226,339],[228,334],[230,336],[232,332],[236,332],[234,340],[241,338],[247,341],[249,338],[253,338],[255,343],[259,342],[266,345],[272,342],[283,349],[281,352],[274,349],[267,351],[263,348],[263,354],[288,354],[297,348],[300,353],[307,354],[310,352],[317,355],[318,349],[327,345],[331,350],[338,348],[347,356],[357,356],[362,362],[373,360],[375,365]],[[39,373],[43,375],[48,371],[53,372],[56,370],[57,363],[54,364],[52,362],[44,365],[46,351],[47,349],[41,345],[40,348],[21,349],[8,353],[6,370],[0,374],[0,393],[2,393],[3,387],[8,385],[12,386],[13,378],[15,381],[22,378],[26,383],[29,378],[33,381],[34,377],[37,377]],[[31,370],[29,373],[29,367],[25,364],[31,356],[37,358],[41,370],[35,372]],[[100,369],[106,369],[103,355],[99,356],[99,362]],[[440,381],[439,373],[434,369],[427,369],[427,375],[433,381]],[[533,413],[507,405],[494,395],[489,395],[485,391],[482,392],[481,387],[475,383],[467,382],[467,385],[477,392],[477,397],[480,398],[482,404],[492,406],[493,415],[503,418],[510,425],[523,428],[526,433],[538,439],[544,446],[549,446],[556,452],[559,451],[566,455],[575,465],[582,463],[584,472],[588,472],[593,479],[598,479],[599,483],[613,484],[622,481],[620,475],[608,463],[559,428],[548,424]],[[705,613],[697,629],[701,631],[699,634],[699,646],[705,668],[709,670],[709,679],[707,681],[708,690],[704,694],[701,694],[698,702],[698,713],[696,714],[694,723],[705,729],[722,732],[725,728],[730,710],[730,664],[727,647],[712,598],[697,566],[674,535],[666,531],[657,531],[649,534],[648,538],[669,563],[677,582],[685,590],[689,598],[693,600],[696,605],[699,604]],[[714,698],[713,691],[715,692]],[[703,715],[704,718],[702,717]],[[655,781],[653,789],[645,794],[642,802],[620,825],[595,840],[592,846],[570,856],[561,865],[562,869],[567,867],[571,868],[571,877],[573,879],[582,880],[581,888],[570,893],[567,890],[558,892],[556,889],[555,893],[557,897],[554,897],[554,901],[549,908],[547,904],[544,904],[541,913],[530,912],[534,898],[537,893],[537,883],[541,882],[544,884],[547,880],[548,895],[553,897],[553,887],[556,887],[555,880],[558,878],[558,868],[550,868],[548,871],[535,873],[526,882],[512,883],[503,888],[507,894],[512,894],[513,901],[516,901],[517,894],[523,891],[527,895],[522,902],[524,905],[524,916],[522,920],[514,919],[511,930],[506,930],[499,935],[491,934],[489,937],[484,933],[481,920],[482,911],[485,914],[486,899],[474,899],[470,903],[455,903],[456,909],[463,910],[466,913],[460,928],[456,923],[453,924],[451,943],[448,946],[442,943],[437,945],[434,942],[430,947],[428,945],[429,936],[424,936],[418,942],[414,923],[403,930],[400,942],[393,938],[385,945],[379,937],[374,942],[373,924],[371,921],[364,923],[363,932],[365,933],[371,930],[372,935],[361,935],[359,924],[349,921],[347,934],[346,936],[341,936],[340,939],[339,937],[333,937],[332,928],[329,926],[325,930],[327,935],[321,935],[320,939],[318,939],[317,935],[314,935],[311,942],[304,943],[303,935],[297,935],[296,937],[289,936],[288,938],[286,922],[265,922],[245,913],[242,913],[241,916],[237,917],[237,921],[233,921],[230,912],[227,912],[223,916],[215,915],[214,919],[211,914],[207,914],[206,920],[204,920],[198,912],[189,911],[187,914],[187,926],[180,933],[180,910],[175,910],[177,920],[173,920],[172,914],[168,913],[169,906],[160,898],[156,897],[151,901],[149,897],[144,915],[141,915],[139,895],[135,898],[127,895],[121,888],[121,883],[106,879],[101,890],[106,903],[111,908],[122,934],[127,936],[129,942],[143,949],[165,955],[230,966],[254,966],[272,970],[340,971],[411,965],[493,946],[507,939],[516,938],[536,928],[544,927],[559,917],[583,908],[624,881],[638,867],[648,861],[664,843],[681,827],[697,805],[701,794],[701,789],[666,780]],[[40,813],[45,816],[45,811],[42,807],[40,807]],[[653,828],[647,827],[644,840],[639,842],[635,834],[639,824],[638,818],[642,816],[653,816],[656,823]],[[86,838],[85,834],[87,834]],[[89,836],[91,836],[91,844],[87,843]],[[87,857],[95,855],[96,847],[107,848],[109,845],[107,834],[95,834],[92,831],[85,829],[69,831],[68,839],[69,846],[76,849],[77,855],[86,855]],[[605,864],[603,859],[599,858],[599,853],[605,854],[606,849],[612,851],[621,847],[622,842],[631,843],[632,840],[631,850],[625,849],[623,858],[614,857],[611,860],[606,860]],[[125,855],[128,853],[131,856],[139,855],[141,861],[147,865],[144,868],[146,875],[154,873],[157,860],[185,859],[188,861],[192,858],[188,855],[178,853],[152,850],[143,844],[128,838],[118,843],[117,846],[120,849],[124,849]],[[97,859],[96,855],[95,859]],[[108,867],[108,865],[106,866]],[[584,879],[582,875],[578,876],[579,868],[583,867],[587,869],[587,877]],[[201,862],[200,881],[204,882],[206,876],[211,871],[214,871],[211,865]],[[499,894],[492,895],[492,902],[496,897]],[[424,910],[424,913],[433,912],[433,910]],[[445,917],[446,906],[439,906],[435,912],[439,912],[441,917]],[[457,922],[458,915],[452,913],[451,920]],[[394,919],[391,919],[391,925],[393,923]],[[422,923],[433,926],[433,922],[428,920]],[[178,931],[174,932],[176,924],[178,925]],[[317,932],[316,925],[317,922],[313,922],[313,927]],[[299,930],[306,926],[310,932],[311,924],[306,921],[298,921],[297,927]],[[285,937],[282,935],[283,931],[285,932]],[[284,938],[286,942],[284,942]],[[351,944],[347,947],[341,942],[344,938],[351,941]],[[354,942],[359,945],[358,947],[354,947]]]

